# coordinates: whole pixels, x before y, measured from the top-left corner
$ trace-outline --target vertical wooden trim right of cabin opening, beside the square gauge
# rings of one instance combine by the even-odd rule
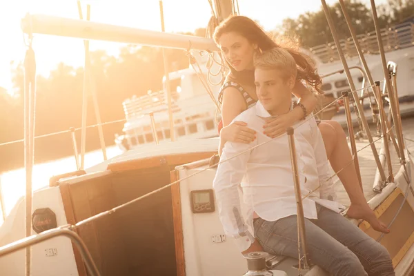
[[[171,182],[179,179],[179,172],[172,170]],[[181,217],[181,196],[179,182],[171,186],[172,218],[174,219],[175,260],[177,276],[186,276],[186,260],[184,257],[183,221]]]

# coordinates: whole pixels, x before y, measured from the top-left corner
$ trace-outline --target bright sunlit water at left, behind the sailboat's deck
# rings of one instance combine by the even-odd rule
[[[106,148],[106,155],[108,159],[120,154],[121,150],[117,146],[110,146]],[[85,168],[99,164],[101,161],[103,161],[101,150],[88,152],[85,155]],[[49,185],[49,179],[53,175],[72,172],[74,170],[77,170],[74,156],[42,164],[35,164],[33,166],[32,190],[39,190],[40,188],[47,187]],[[10,170],[0,175],[0,188],[3,193],[4,210],[6,215],[8,215],[19,198],[26,195],[25,169],[19,168],[17,170]],[[0,224],[3,224],[3,218],[1,215]]]

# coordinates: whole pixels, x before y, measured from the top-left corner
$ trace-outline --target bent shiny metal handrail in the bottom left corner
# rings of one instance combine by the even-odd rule
[[[90,255],[86,244],[82,241],[79,235],[77,235],[77,233],[69,230],[70,227],[72,226],[61,226],[60,228],[46,230],[40,234],[25,237],[23,239],[17,240],[16,242],[12,242],[11,244],[7,244],[6,246],[1,246],[0,257],[17,252],[23,248],[34,246],[35,244],[39,244],[54,237],[65,236],[71,239],[73,244],[75,244],[75,246],[77,246],[79,249],[79,252],[81,253],[82,259],[85,261],[86,268],[88,268],[90,275],[101,275],[97,266],[95,265],[95,262],[93,262],[92,256]]]

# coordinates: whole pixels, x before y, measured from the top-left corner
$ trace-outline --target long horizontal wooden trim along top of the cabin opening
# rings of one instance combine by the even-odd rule
[[[149,157],[144,159],[133,159],[117,163],[110,163],[108,164],[108,170],[112,170],[112,172],[121,172],[126,170],[138,170],[142,168],[155,168],[157,166],[161,166],[162,164],[177,166],[197,161],[200,159],[210,158],[215,154],[217,154],[217,152],[193,152],[179,155],[167,155]]]

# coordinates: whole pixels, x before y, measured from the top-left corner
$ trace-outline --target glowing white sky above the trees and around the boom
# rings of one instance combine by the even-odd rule
[[[337,0],[326,0],[328,5]],[[369,0],[362,0],[369,3]],[[376,0],[377,5],[386,0]],[[91,21],[145,30],[161,30],[159,0],[83,0],[91,6]],[[164,0],[166,32],[193,32],[205,28],[211,12],[208,0]],[[273,30],[285,18],[297,18],[321,8],[318,0],[239,0],[240,14],[256,19],[266,30]],[[79,19],[76,0],[3,0],[0,1],[0,87],[12,94],[11,69],[23,60],[26,47],[20,21],[27,12]],[[83,15],[86,17],[85,15]],[[90,50],[103,49],[117,55],[119,43],[91,41]],[[84,50],[80,39],[35,34],[33,48],[37,73],[48,77],[57,63],[83,65]]]

